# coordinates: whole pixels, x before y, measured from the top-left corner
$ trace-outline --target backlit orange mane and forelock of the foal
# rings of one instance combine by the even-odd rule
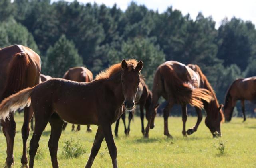
[[[128,67],[133,68],[133,69],[138,64],[138,62],[135,59],[126,60],[126,63],[128,65]],[[113,76],[114,74],[117,74],[121,70],[122,70],[121,63],[113,64],[112,66],[110,66],[106,70],[103,70],[99,74],[97,74],[97,76],[95,77],[95,80],[109,79],[109,78],[111,78],[111,76]]]

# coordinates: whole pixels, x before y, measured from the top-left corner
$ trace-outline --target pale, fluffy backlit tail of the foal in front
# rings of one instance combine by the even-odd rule
[[[5,120],[9,113],[16,111],[18,108],[29,107],[31,103],[31,93],[34,87],[26,88],[20,92],[5,98],[0,104],[0,119]]]

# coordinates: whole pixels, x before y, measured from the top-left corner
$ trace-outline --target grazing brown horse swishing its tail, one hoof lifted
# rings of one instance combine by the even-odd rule
[[[182,134],[187,136],[195,132],[202,121],[202,112],[204,108],[207,113],[205,119],[206,126],[211,133],[221,135],[220,123],[224,119],[221,107],[219,106],[214,90],[210,86],[207,78],[204,76],[199,66],[185,66],[177,61],[167,61],[161,64],[155,73],[153,82],[153,98],[150,111],[157,104],[160,96],[167,100],[164,115],[164,135],[172,137],[168,131],[168,116],[171,107],[174,104],[180,104],[182,107]],[[212,99],[213,97],[213,99]],[[187,121],[187,104],[195,107],[198,114],[196,125],[188,129],[186,132],[185,125]],[[151,120],[149,120],[145,137],[148,137],[149,127],[153,129],[156,113],[151,112]]]

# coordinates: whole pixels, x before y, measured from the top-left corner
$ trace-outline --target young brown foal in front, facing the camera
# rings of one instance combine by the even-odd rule
[[[123,60],[122,63],[101,72],[92,82],[50,79],[3,100],[0,104],[0,117],[3,119],[9,115],[10,109],[31,105],[34,110],[35,129],[30,141],[29,167],[34,166],[38,141],[47,123],[50,122],[52,130],[48,147],[52,166],[58,168],[58,141],[63,123],[67,121],[73,124],[99,126],[87,168],[92,166],[103,138],[107,142],[113,167],[117,168],[117,148],[111,124],[123,113],[123,105],[127,110],[133,109],[142,66],[142,61],[137,63],[135,60]]]

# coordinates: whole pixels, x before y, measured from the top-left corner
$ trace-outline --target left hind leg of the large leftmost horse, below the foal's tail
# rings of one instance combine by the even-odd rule
[[[7,158],[6,158],[6,166],[7,168],[10,168],[12,164],[14,164],[14,156],[13,156],[13,146],[14,146],[14,137],[16,133],[16,123],[14,121],[13,113],[10,113],[9,115],[10,119],[6,119],[5,121],[1,120],[2,126],[3,126],[3,133],[6,137],[6,143],[7,143]]]

